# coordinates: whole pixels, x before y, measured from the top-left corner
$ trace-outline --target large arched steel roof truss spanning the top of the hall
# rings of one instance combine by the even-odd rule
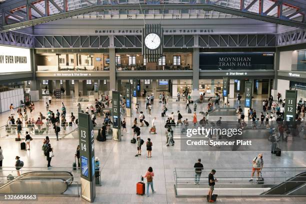
[[[41,0],[39,0],[41,1]],[[110,3],[114,4],[99,4],[99,1],[96,1],[96,3],[91,3],[87,7],[74,9],[74,10],[68,10],[67,9],[67,0],[63,0],[63,7],[57,5],[53,0],[44,0],[45,1],[45,11],[41,12],[37,7],[35,7],[35,2],[37,0],[26,0],[25,5],[15,7],[15,6],[8,6],[6,8],[2,8],[2,27],[0,27],[1,31],[8,31],[13,29],[19,29],[22,27],[32,26],[44,22],[49,22],[52,20],[72,17],[76,15],[81,15],[84,13],[90,13],[90,12],[96,12],[96,11],[103,11],[103,10],[134,10],[135,8],[138,8],[139,4],[115,4],[117,1],[111,1]],[[164,3],[159,2],[159,4],[142,4],[141,8],[144,10],[151,10],[151,9],[203,9],[203,10],[214,10],[222,13],[229,13],[232,15],[238,15],[248,18],[253,18],[257,20],[277,23],[277,24],[283,24],[288,26],[294,26],[294,27],[301,27],[306,28],[306,14],[304,11],[304,8],[295,7],[296,11],[293,13],[289,13],[288,15],[284,16],[282,13],[282,1],[279,0],[273,0],[275,3],[268,8],[267,10],[263,11],[262,8],[262,2],[263,0],[259,0],[259,10],[258,12],[250,12],[249,9],[252,7],[254,3],[257,2],[257,0],[253,0],[249,5],[244,6],[244,0],[241,0],[241,6],[240,9],[226,7],[217,5],[214,3],[210,3],[209,0],[207,1],[200,1],[200,3],[192,3],[191,1],[188,3]],[[24,2],[24,1],[23,1]],[[195,1],[196,2],[196,1]],[[49,13],[49,4],[52,4],[56,9],[57,13],[50,15]],[[16,3],[17,6],[17,3]],[[276,7],[278,8],[278,12],[276,16],[270,16],[268,13]],[[293,7],[293,6],[292,6]],[[10,10],[6,10],[6,9]],[[22,10],[22,8],[26,8]],[[33,16],[31,10],[36,11],[36,13],[40,16]],[[22,11],[22,12],[21,12]],[[25,12],[25,13],[24,13]],[[296,14],[302,15],[302,21],[295,21],[292,20],[290,17],[294,17]],[[33,19],[34,18],[34,19]],[[8,19],[10,21],[8,21]]]

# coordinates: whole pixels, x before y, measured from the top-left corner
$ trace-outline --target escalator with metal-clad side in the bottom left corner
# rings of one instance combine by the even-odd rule
[[[30,171],[0,186],[0,194],[63,194],[73,181],[68,171]]]

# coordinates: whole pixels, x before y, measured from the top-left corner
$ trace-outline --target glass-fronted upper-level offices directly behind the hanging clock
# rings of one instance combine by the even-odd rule
[[[158,62],[146,62],[141,53],[120,53],[115,58],[117,70],[191,70],[191,53],[164,53]]]

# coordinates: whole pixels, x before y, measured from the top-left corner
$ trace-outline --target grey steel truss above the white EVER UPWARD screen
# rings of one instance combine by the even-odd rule
[[[0,32],[0,44],[20,46],[20,47],[33,47],[34,37],[32,35],[20,32]]]

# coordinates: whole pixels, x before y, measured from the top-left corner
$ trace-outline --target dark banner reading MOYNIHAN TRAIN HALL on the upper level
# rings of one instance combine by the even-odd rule
[[[274,52],[199,53],[200,70],[273,69]]]

